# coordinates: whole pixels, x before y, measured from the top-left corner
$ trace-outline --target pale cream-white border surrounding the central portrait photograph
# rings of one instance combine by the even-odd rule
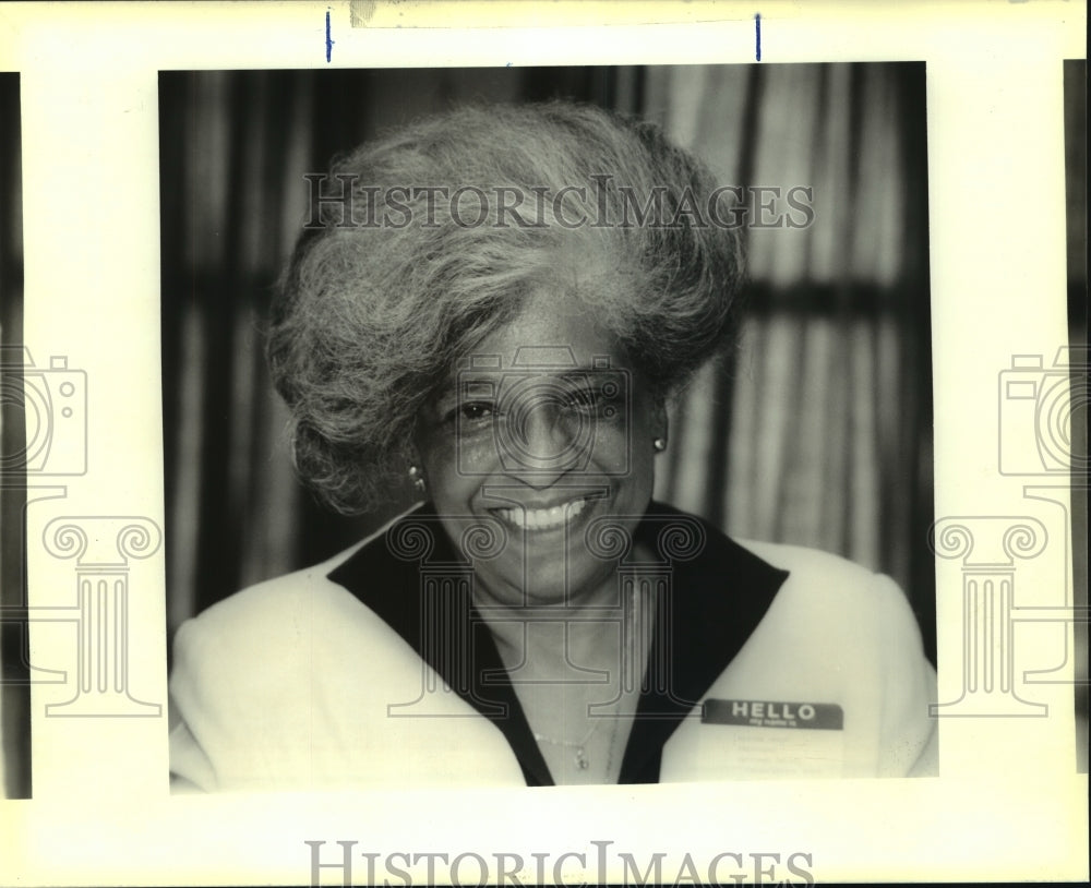
[[[502,5],[473,4],[481,15]],[[135,703],[165,712],[167,701],[160,70],[752,62],[758,28],[763,63],[925,61],[936,516],[978,521],[974,539],[994,519],[1036,521],[1044,554],[1019,567],[1019,604],[1047,616],[1071,603],[1067,488],[1002,473],[997,393],[1014,357],[1048,362],[1067,341],[1062,65],[1083,56],[1086,7],[613,5],[578,13],[595,23],[550,26],[514,3],[505,12],[533,15],[535,27],[513,19],[460,32],[400,3],[3,4],[0,68],[21,74],[24,341],[67,357],[95,393],[95,464],[64,480],[62,501],[28,514],[29,603],[71,600],[74,564],[96,577],[112,565],[111,581],[124,574]],[[622,24],[603,31],[599,20]],[[72,516],[93,519],[86,545],[62,532]],[[1038,544],[998,532],[1012,563]],[[109,545],[113,554],[96,549]],[[940,701],[964,696],[967,569],[962,555],[937,561]],[[305,885],[308,841],[325,843],[326,863],[338,842],[355,842],[357,879],[364,852],[395,855],[413,884],[424,863],[396,855],[548,853],[549,877],[583,881],[598,879],[603,849],[613,867],[619,852],[642,863],[661,852],[663,873],[683,877],[687,855],[700,874],[717,855],[760,869],[776,854],[806,855],[793,860],[819,881],[1086,879],[1087,775],[1075,768],[1072,663],[1057,653],[1071,635],[1070,620],[1020,626],[1021,668],[1057,670],[1058,683],[1020,691],[1047,717],[943,719],[942,777],[923,780],[178,797],[161,718],[52,718],[47,707],[73,688],[36,685],[34,797],[0,803],[0,880]],[[71,622],[32,627],[32,660],[71,662],[74,638]],[[477,878],[468,860],[465,877]],[[320,872],[324,884],[343,876],[336,865]]]

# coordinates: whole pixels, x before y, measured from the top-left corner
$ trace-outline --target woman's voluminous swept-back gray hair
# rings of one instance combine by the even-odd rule
[[[573,243],[625,284],[578,298],[657,397],[733,338],[740,238],[702,203],[723,189],[651,123],[571,103],[463,107],[335,160],[338,176],[368,213],[321,204],[283,275],[267,355],[296,470],[340,512],[404,477],[421,407]]]

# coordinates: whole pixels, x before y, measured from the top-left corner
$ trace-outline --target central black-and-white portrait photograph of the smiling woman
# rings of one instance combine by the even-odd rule
[[[936,773],[924,74],[164,72],[176,788]]]

